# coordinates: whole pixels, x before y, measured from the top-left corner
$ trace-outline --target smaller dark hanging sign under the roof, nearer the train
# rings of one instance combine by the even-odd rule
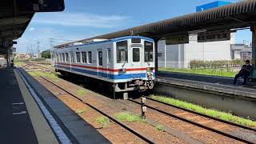
[[[189,35],[166,38],[166,45],[178,45],[178,44],[184,44],[189,42],[190,42]]]

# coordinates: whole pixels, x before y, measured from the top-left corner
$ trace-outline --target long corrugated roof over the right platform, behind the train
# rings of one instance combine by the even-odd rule
[[[86,38],[77,42],[86,42],[95,38],[118,38],[129,35],[141,35],[159,39],[170,36],[196,33],[199,30],[227,30],[253,26],[256,22],[256,1],[244,0],[218,8],[204,10],[194,14],[186,14],[176,18],[166,19],[160,22],[136,26],[126,30],[120,30],[110,34],[103,34],[93,38]],[[72,42],[54,46],[61,48],[69,46]]]

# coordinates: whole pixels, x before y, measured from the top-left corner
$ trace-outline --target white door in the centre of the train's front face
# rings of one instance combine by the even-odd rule
[[[131,78],[142,78],[142,47],[131,47],[131,66],[130,69],[134,70],[130,74]]]

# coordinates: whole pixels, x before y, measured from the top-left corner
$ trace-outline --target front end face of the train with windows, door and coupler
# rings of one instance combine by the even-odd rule
[[[116,92],[154,88],[154,40],[131,36],[114,42]]]

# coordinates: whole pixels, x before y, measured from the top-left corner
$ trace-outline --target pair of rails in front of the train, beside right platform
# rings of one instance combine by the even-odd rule
[[[223,135],[223,136],[225,136],[227,138],[232,138],[234,140],[237,140],[237,141],[240,141],[240,142],[245,142],[245,143],[255,143],[255,142],[251,142],[250,140],[248,140],[246,138],[241,138],[241,137],[239,137],[237,135],[230,134],[230,133],[228,133],[228,132],[226,132],[224,130],[218,130],[218,129],[212,127],[212,126],[207,126],[207,125],[202,124],[200,122],[195,122],[193,120],[190,120],[190,118],[183,118],[182,116],[179,116],[178,114],[173,114],[173,113],[170,113],[170,112],[166,112],[166,110],[163,110],[163,109],[159,108],[159,107],[162,107],[162,106],[159,106],[159,104],[162,104],[164,106],[169,106],[169,107],[172,107],[172,108],[175,108],[175,109],[178,109],[178,110],[182,110],[183,112],[186,112],[186,113],[190,113],[190,114],[194,114],[194,115],[199,115],[199,116],[201,116],[203,118],[206,118],[206,119],[209,119],[209,120],[214,120],[215,122],[222,122],[222,123],[225,123],[226,125],[229,125],[229,126],[235,126],[235,127],[239,128],[239,129],[250,130],[253,133],[256,131],[254,128],[250,128],[250,127],[246,127],[246,126],[241,126],[241,125],[238,125],[236,123],[227,122],[227,121],[224,121],[224,120],[221,120],[221,119],[218,119],[218,118],[213,118],[213,117],[207,116],[205,114],[199,114],[199,113],[194,112],[192,110],[186,110],[186,109],[180,108],[178,106],[172,106],[172,105],[166,104],[164,102],[159,102],[159,101],[154,100],[152,98],[148,98],[148,97],[146,97],[146,98],[147,98],[147,102],[150,101],[151,104],[154,102],[154,106],[151,106],[149,104],[145,104],[145,106],[148,107],[151,110],[155,110],[155,111],[157,111],[157,112],[159,112],[161,114],[166,114],[167,116],[170,116],[172,118],[177,118],[178,120],[181,120],[183,122],[188,122],[188,123],[190,123],[190,124],[192,124],[194,126],[199,126],[202,129],[210,130],[210,131],[212,131],[214,133],[221,134],[221,135]],[[134,99],[131,99],[131,98],[128,99],[128,100],[130,102],[134,102],[134,103],[136,103],[138,105],[141,105],[141,102],[139,102],[137,100],[134,100]]]

